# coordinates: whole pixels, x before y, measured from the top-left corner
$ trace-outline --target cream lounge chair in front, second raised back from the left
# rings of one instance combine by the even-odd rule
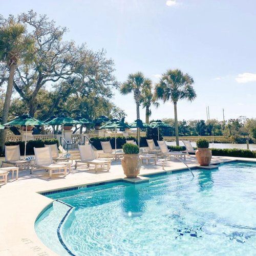
[[[67,165],[53,162],[50,147],[34,147],[34,152],[36,165],[31,167],[31,173],[35,169],[45,169],[49,171],[50,178],[55,174],[67,175]]]

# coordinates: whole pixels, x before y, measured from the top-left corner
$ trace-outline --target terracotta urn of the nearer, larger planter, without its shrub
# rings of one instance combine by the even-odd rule
[[[127,178],[136,178],[140,173],[141,164],[139,154],[124,154],[122,158],[123,173]]]

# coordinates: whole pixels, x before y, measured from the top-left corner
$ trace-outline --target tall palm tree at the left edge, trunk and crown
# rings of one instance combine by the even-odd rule
[[[31,60],[34,49],[34,40],[27,35],[26,27],[11,21],[0,28],[0,61],[9,68],[5,102],[2,114],[2,124],[7,122],[12,96],[13,78],[19,59]],[[5,130],[1,130],[0,146],[2,150],[5,143]]]

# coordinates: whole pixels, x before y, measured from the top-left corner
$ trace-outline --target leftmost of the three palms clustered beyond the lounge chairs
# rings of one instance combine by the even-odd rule
[[[121,84],[120,92],[123,95],[133,92],[133,97],[136,102],[136,113],[137,119],[140,119],[140,104],[142,102],[142,92],[148,87],[150,82],[142,74],[142,72],[137,72],[135,74],[129,74],[128,79]],[[137,137],[139,136],[139,129],[137,129]]]

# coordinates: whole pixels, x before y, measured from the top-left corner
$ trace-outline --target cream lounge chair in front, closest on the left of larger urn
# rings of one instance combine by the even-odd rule
[[[110,166],[111,166],[111,160],[108,159],[95,159],[93,148],[91,144],[85,143],[84,145],[78,145],[79,153],[81,160],[76,160],[75,168],[77,168],[78,163],[87,164],[87,167],[90,167],[90,164],[93,164],[95,166],[95,173],[98,170],[98,166],[100,168],[104,168],[106,165],[106,168],[109,172]]]

